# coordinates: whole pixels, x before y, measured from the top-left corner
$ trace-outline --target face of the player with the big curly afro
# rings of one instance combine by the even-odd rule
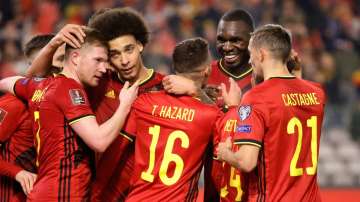
[[[132,35],[124,35],[109,41],[110,61],[124,80],[135,81],[143,68],[143,45]]]

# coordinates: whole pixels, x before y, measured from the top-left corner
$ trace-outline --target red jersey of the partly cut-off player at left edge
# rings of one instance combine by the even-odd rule
[[[0,199],[25,201],[16,174],[36,172],[31,120],[25,104],[13,95],[0,98]]]

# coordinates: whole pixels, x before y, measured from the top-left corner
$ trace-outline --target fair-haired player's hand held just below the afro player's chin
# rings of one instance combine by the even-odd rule
[[[120,104],[127,107],[131,106],[131,104],[135,101],[137,97],[139,84],[139,80],[137,80],[131,86],[128,81],[125,82],[124,87],[121,89],[119,94]]]

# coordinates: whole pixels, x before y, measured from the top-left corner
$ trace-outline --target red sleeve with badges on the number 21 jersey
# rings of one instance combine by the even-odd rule
[[[233,141],[235,145],[248,144],[262,147],[265,133],[265,108],[264,104],[244,97],[237,108],[238,120]]]

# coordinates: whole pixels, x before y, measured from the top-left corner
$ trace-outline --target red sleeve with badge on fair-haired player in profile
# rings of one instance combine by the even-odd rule
[[[57,89],[58,97],[55,98],[55,103],[64,112],[69,124],[87,116],[94,116],[83,87],[78,83],[65,81]]]

